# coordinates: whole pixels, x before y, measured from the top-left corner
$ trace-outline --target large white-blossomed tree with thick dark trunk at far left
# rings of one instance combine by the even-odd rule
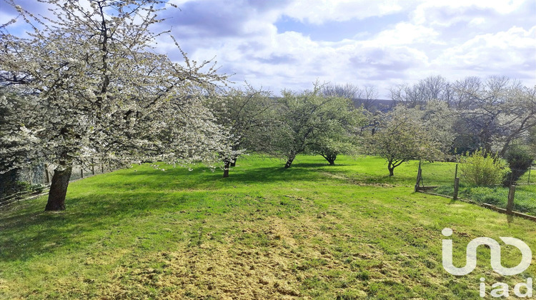
[[[167,34],[149,30],[165,1],[43,2],[52,16],[7,1],[26,21],[24,36],[11,34],[15,20],[0,27],[1,84],[33,97],[24,106],[2,99],[18,124],[1,129],[3,144],[17,146],[1,150],[13,156],[0,171],[28,159],[56,166],[46,204],[54,211],[65,209],[74,164],[217,158],[225,134],[200,98],[225,78],[211,62],[187,59],[172,36],[184,64],[153,48]]]

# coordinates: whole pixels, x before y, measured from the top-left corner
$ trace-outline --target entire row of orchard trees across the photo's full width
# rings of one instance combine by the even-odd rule
[[[392,89],[397,105],[372,109],[377,91],[314,84],[307,91],[224,89],[211,61],[177,64],[157,54],[159,0],[46,0],[54,17],[9,0],[26,37],[0,26],[0,171],[55,166],[46,210],[65,208],[74,164],[165,161],[223,164],[245,151],[286,159],[377,154],[389,174],[409,159],[437,160],[457,146],[505,153],[534,128],[535,89],[504,77],[448,83],[440,76]],[[174,41],[172,36],[169,36]],[[362,99],[356,107],[352,99]],[[466,149],[462,149],[465,151]]]

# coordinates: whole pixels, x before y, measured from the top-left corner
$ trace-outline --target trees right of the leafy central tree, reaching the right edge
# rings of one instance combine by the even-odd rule
[[[479,149],[496,157],[536,154],[536,86],[505,76],[454,82],[431,76],[391,93],[395,108],[380,117],[380,132],[372,139],[372,153],[387,159],[391,175],[408,159],[451,159]]]

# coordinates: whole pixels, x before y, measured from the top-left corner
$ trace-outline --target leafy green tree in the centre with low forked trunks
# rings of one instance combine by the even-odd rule
[[[312,151],[334,164],[337,154],[352,152],[354,133],[364,122],[362,109],[340,96],[325,96],[322,86],[310,91],[282,91],[277,106],[279,128],[272,143],[276,154],[286,156],[289,168],[297,154]]]

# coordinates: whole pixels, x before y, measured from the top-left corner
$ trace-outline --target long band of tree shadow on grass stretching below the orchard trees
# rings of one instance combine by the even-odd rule
[[[258,184],[256,189],[261,190],[269,184],[294,186],[326,180],[322,172],[334,170],[333,167],[299,162],[289,169],[283,165],[237,166],[229,178],[222,178],[221,170],[158,171],[145,165],[94,176],[70,185],[66,211],[42,211],[46,197],[21,202],[11,211],[0,211],[0,261],[26,260],[87,246],[106,235],[102,231],[122,226],[129,219],[154,211],[167,213],[203,206],[209,191],[228,193],[228,189],[244,184]]]

